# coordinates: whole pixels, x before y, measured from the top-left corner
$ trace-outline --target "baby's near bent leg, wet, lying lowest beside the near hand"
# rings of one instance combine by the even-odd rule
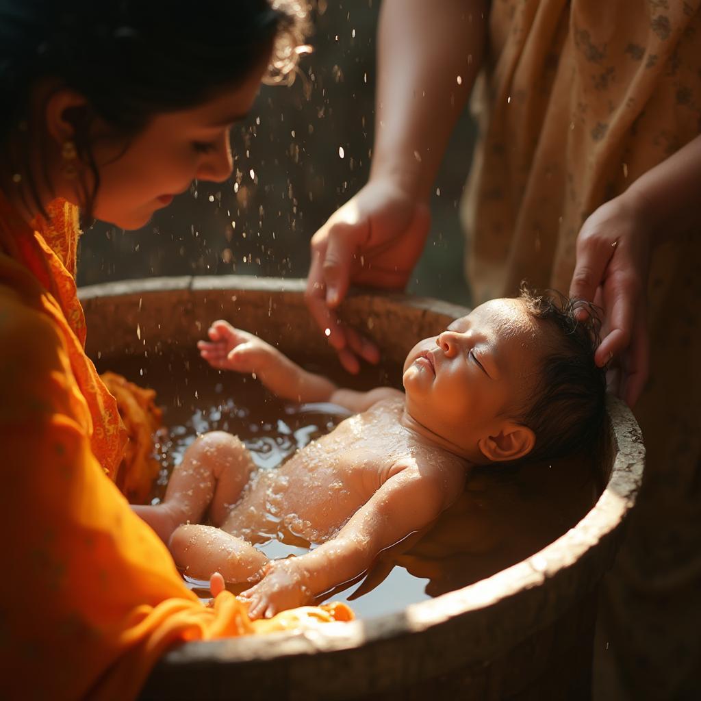
[[[220,572],[229,583],[246,582],[268,558],[245,540],[213,526],[180,526],[170,538],[175,564],[196,579]]]

